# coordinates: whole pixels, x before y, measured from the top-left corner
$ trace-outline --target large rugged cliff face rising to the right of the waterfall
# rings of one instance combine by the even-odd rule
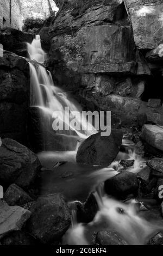
[[[163,4],[141,0],[56,3],[60,8],[57,17],[51,27],[41,31],[55,82],[90,102],[87,109],[112,111],[121,123],[131,125],[139,114],[146,113],[149,122],[155,123],[151,117],[157,116],[156,122],[163,124],[161,105],[153,108],[147,104],[151,97],[160,97],[151,89],[160,64],[158,68],[151,59],[161,61],[153,51],[162,40]],[[67,35],[76,39],[79,33],[83,35],[83,59],[76,63],[67,59],[60,47]]]

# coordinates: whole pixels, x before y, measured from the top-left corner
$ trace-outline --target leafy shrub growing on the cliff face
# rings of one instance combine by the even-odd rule
[[[76,36],[64,35],[60,40],[60,52],[64,54],[67,62],[79,65],[84,58],[84,44],[86,39],[85,29],[80,29]]]

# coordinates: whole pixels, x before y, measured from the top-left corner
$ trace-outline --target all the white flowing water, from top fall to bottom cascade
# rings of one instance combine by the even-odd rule
[[[43,63],[47,58],[41,48],[40,36],[36,36],[32,44],[27,44],[31,60]],[[58,118],[69,125],[69,115],[64,117],[65,107],[70,112],[81,111],[81,108],[68,99],[68,95],[54,86],[51,72],[41,64],[29,63],[31,80],[31,106],[41,109],[43,115],[51,120],[54,112],[58,111]],[[77,120],[80,123],[80,119]],[[90,129],[87,129],[89,127]],[[90,131],[92,130],[92,131]],[[85,139],[92,133],[96,133],[91,124],[82,124],[81,131],[70,127],[70,131],[64,136],[78,136]],[[63,133],[58,131],[58,133]],[[46,142],[45,142],[46,143]],[[79,144],[78,144],[79,145]],[[77,148],[78,148],[77,145]],[[129,245],[142,245],[158,230],[162,230],[162,223],[152,223],[142,218],[139,214],[139,204],[133,200],[128,203],[118,202],[109,198],[103,190],[103,182],[121,172],[120,161],[124,159],[135,160],[134,166],[128,168],[129,172],[138,173],[145,167],[145,160],[135,154],[134,145],[123,141],[124,147],[129,148],[126,153],[120,152],[117,159],[108,168],[83,166],[76,163],[76,152],[42,152],[39,159],[45,167],[45,178],[42,190],[47,193],[62,192],[68,200],[81,200],[91,191],[95,192],[98,204],[98,212],[94,220],[89,224],[77,223],[76,210],[72,210],[72,227],[65,234],[63,243],[68,245],[91,245],[92,231],[114,230],[120,234]],[[57,165],[65,161],[65,164]],[[46,168],[48,172],[46,173]],[[65,177],[68,177],[66,180]],[[47,179],[47,180],[46,180]],[[100,189],[96,187],[101,184]]]

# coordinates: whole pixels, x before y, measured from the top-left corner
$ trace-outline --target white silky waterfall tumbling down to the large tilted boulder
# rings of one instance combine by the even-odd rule
[[[29,63],[30,66],[30,84],[31,84],[31,97],[30,106],[37,107],[43,112],[43,116],[46,117],[46,126],[51,125],[47,120],[52,120],[53,113],[58,113],[57,118],[64,124],[64,127],[68,129],[58,130],[56,133],[66,136],[76,136],[85,139],[96,133],[95,128],[85,120],[81,123],[81,110],[76,103],[73,103],[68,99],[68,95],[60,88],[54,86],[51,72],[47,71],[43,66],[43,62],[46,58],[46,53],[41,48],[40,36],[36,35],[32,44],[27,44],[29,58],[36,61]],[[65,112],[65,108],[68,109]],[[70,116],[71,113],[79,113],[76,115],[76,123],[81,129],[76,129],[71,125]],[[55,117],[56,118],[56,117]],[[43,130],[43,127],[42,127]],[[45,142],[46,143],[46,142]]]

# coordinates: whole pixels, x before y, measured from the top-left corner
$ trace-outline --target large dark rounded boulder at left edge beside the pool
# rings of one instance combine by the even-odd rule
[[[41,169],[37,156],[20,143],[5,138],[0,147],[0,180],[20,187],[32,184]]]

